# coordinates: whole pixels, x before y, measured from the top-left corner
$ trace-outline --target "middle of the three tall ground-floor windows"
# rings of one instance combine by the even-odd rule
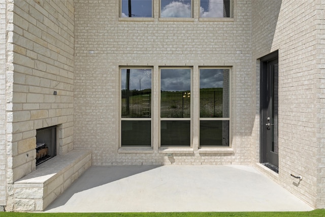
[[[191,69],[160,69],[160,146],[190,146]]]

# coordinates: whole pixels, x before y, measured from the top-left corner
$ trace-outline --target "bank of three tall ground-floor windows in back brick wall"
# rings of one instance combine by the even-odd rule
[[[231,145],[230,68],[121,67],[120,77],[121,147],[198,148],[193,135],[199,147]]]

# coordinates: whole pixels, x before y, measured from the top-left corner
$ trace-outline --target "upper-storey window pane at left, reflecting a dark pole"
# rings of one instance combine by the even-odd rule
[[[152,17],[152,0],[122,0],[121,17]]]

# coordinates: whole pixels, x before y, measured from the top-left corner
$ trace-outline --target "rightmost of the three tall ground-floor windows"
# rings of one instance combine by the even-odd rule
[[[229,146],[230,70],[200,69],[200,146]]]

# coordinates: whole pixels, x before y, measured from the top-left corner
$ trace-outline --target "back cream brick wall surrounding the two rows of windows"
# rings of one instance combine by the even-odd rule
[[[74,145],[90,148],[94,165],[251,163],[251,4],[235,1],[234,18],[199,20],[199,1],[193,18],[119,18],[119,1],[75,1],[75,113]],[[89,51],[93,51],[93,54]],[[119,66],[153,67],[153,147],[119,149]],[[233,151],[198,149],[193,128],[192,149],[161,150],[159,118],[160,66],[193,68],[191,100],[198,102],[198,67],[231,66],[231,123]],[[192,112],[198,126],[198,110]],[[166,152],[172,152],[167,157]]]

